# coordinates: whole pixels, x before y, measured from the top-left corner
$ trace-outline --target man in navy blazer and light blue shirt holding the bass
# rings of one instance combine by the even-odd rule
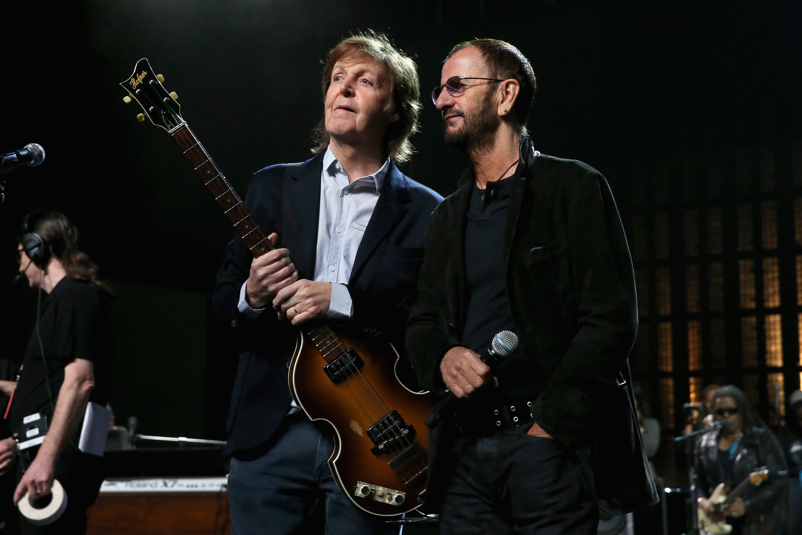
[[[395,166],[418,128],[410,58],[381,34],[358,34],[330,52],[322,85],[317,156],[262,169],[245,198],[277,249],[254,260],[235,237],[217,275],[214,306],[242,351],[227,422],[233,535],[310,533],[320,502],[327,534],[390,532],[342,494],[327,465],[329,426],[290,398],[293,325],[328,318],[400,351],[442,197]]]

